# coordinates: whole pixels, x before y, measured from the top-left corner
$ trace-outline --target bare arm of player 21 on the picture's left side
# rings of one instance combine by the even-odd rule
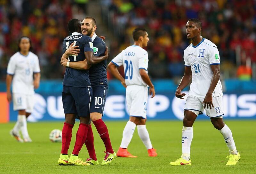
[[[188,86],[192,79],[192,71],[191,66],[185,66],[185,72],[184,75],[180,81],[180,84],[175,92],[175,96],[180,99],[184,99],[183,97],[186,95],[185,93],[181,93],[181,91]]]

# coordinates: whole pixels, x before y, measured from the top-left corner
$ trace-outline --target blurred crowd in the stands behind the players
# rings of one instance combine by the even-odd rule
[[[83,19],[90,0],[0,0],[0,80],[5,79],[17,40],[28,36],[38,55],[42,79],[61,79],[63,39],[67,22]],[[95,1],[94,1],[95,2]],[[153,78],[173,78],[184,73],[183,51],[189,18],[202,21],[202,36],[220,51],[221,71],[227,77],[252,78],[256,62],[255,0],[98,0],[102,26],[109,34],[110,61],[133,43],[135,27],[148,30],[148,73]],[[238,55],[239,54],[239,55]],[[235,71],[234,69],[238,69]],[[111,78],[111,76],[109,76]]]

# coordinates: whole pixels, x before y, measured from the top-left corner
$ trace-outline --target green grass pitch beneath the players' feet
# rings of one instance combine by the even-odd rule
[[[106,121],[114,151],[117,151],[122,139],[126,121]],[[133,134],[128,150],[138,158],[118,157],[107,166],[59,166],[61,143],[49,141],[53,129],[62,129],[62,122],[28,123],[28,132],[32,143],[18,143],[9,134],[14,123],[0,124],[0,173],[255,173],[256,164],[256,121],[226,120],[233,133],[241,159],[236,166],[226,166],[228,148],[220,132],[210,120],[194,124],[194,137],[191,147],[192,166],[170,166],[171,161],[181,155],[182,121],[147,122],[151,142],[157,149],[157,157],[148,157],[147,149],[140,140],[137,130]],[[99,163],[105,151],[95,127],[94,144]],[[73,137],[69,148],[72,152],[78,122],[73,128]],[[86,159],[85,146],[79,157]]]

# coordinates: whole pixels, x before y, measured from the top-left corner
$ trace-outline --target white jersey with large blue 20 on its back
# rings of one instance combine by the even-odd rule
[[[116,66],[124,65],[126,85],[147,86],[140,76],[140,69],[145,69],[148,73],[148,52],[146,50],[137,45],[132,45],[119,53],[112,62]]]

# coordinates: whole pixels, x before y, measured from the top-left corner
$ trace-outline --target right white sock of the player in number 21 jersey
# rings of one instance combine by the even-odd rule
[[[226,124],[224,127],[222,127],[222,129],[220,129],[220,133],[223,135],[224,140],[227,143],[229,153],[232,155],[234,155],[234,154],[236,155],[237,150],[236,150],[235,141],[233,139],[231,130],[229,129],[229,127]]]

